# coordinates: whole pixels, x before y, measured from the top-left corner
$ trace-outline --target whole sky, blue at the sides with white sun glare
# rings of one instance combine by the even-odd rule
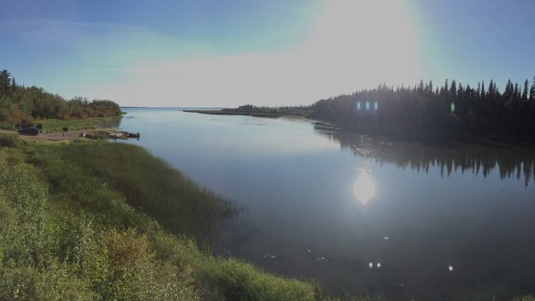
[[[122,106],[311,104],[535,75],[535,1],[0,0],[0,69]]]

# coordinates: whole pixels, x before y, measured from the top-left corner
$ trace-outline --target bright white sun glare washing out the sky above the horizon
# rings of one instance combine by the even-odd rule
[[[169,102],[166,106],[174,101],[182,106],[239,106],[251,101],[261,106],[286,101],[305,105],[381,83],[416,82],[422,74],[416,42],[401,0],[329,1],[300,42],[280,51],[155,56],[126,67],[121,84],[93,90],[99,91],[97,98],[128,99],[139,105],[145,99]],[[360,110],[366,108],[372,110],[373,104],[366,107],[363,102]]]

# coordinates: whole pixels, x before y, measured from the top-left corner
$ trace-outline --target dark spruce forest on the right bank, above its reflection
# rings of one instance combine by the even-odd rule
[[[501,93],[496,82],[477,86],[446,80],[443,86],[420,80],[414,86],[379,85],[321,99],[309,117],[351,130],[404,136],[492,134],[533,139],[535,77],[530,86],[508,80]]]

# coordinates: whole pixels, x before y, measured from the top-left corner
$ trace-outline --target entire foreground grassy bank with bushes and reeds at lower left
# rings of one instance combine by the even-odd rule
[[[196,227],[230,205],[139,147],[0,146],[0,300],[323,299],[312,282],[201,252]]]

